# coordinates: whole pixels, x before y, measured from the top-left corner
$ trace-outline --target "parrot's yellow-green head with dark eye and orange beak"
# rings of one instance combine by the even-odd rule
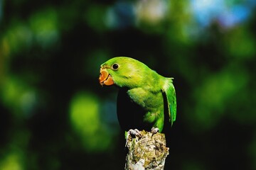
[[[143,81],[144,69],[142,62],[130,57],[114,57],[100,66],[100,84],[133,88]]]

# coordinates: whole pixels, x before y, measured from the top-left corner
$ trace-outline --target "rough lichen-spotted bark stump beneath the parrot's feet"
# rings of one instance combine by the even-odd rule
[[[166,147],[166,139],[163,133],[152,134],[141,131],[142,137],[127,139],[127,156],[125,170],[149,170],[164,169],[164,163],[169,154],[169,147]]]

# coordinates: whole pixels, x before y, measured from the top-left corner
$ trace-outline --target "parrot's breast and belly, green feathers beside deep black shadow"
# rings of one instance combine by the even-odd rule
[[[117,117],[122,129],[151,130],[164,109],[159,93],[144,89],[120,89],[117,98]]]

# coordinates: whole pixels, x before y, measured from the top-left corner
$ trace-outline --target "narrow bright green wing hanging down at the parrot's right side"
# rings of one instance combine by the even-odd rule
[[[164,96],[167,99],[168,111],[169,111],[169,122],[173,125],[174,121],[176,120],[176,93],[174,89],[174,84],[171,82],[169,86],[164,89]]]

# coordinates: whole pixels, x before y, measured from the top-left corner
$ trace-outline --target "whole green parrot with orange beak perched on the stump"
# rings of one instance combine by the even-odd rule
[[[162,77],[130,57],[114,57],[100,66],[100,84],[119,87],[117,118],[127,135],[139,130],[163,132],[176,120],[173,78]]]

